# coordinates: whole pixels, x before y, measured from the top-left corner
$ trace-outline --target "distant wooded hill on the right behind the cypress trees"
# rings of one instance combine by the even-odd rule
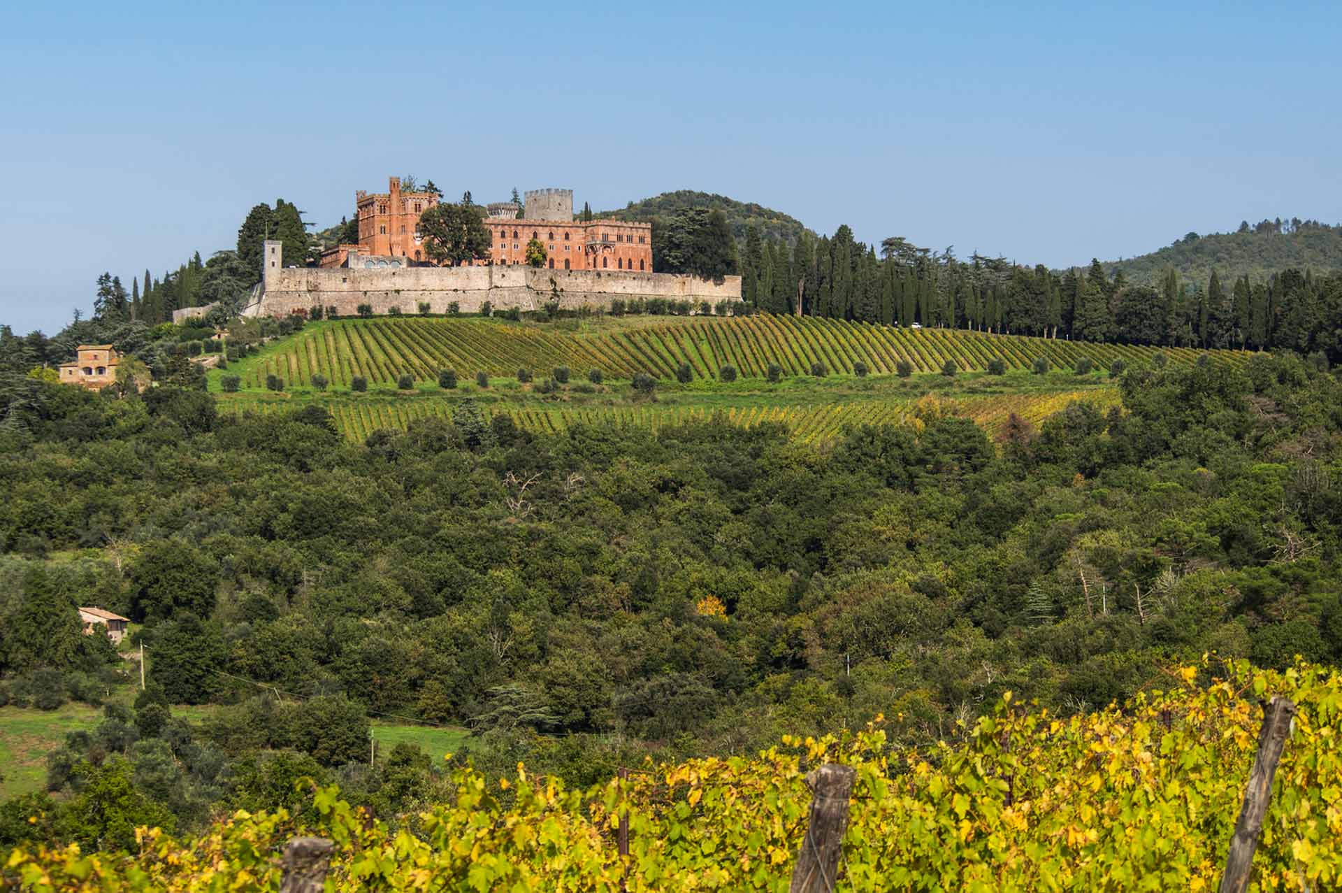
[[[1200,236],[1190,232],[1174,244],[1137,258],[1110,261],[1104,270],[1111,275],[1122,270],[1129,282],[1155,283],[1161,274],[1174,267],[1180,278],[1206,283],[1216,270],[1221,282],[1244,274],[1266,279],[1288,267],[1330,273],[1342,270],[1342,227],[1292,222],[1263,222],[1239,232],[1216,232]]]

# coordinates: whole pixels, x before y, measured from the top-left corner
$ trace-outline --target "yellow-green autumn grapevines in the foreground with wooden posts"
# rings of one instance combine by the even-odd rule
[[[1219,674],[1220,678],[1213,678]],[[1263,709],[1298,714],[1276,769],[1252,889],[1342,882],[1342,677],[1298,663],[1172,669],[1168,690],[1070,718],[1005,693],[960,744],[894,747],[864,732],[785,739],[753,759],[644,765],[585,791],[518,767],[498,787],[455,769],[456,799],[399,830],[315,791],[323,816],[238,812],[200,839],[141,833],[141,853],[16,850],[0,885],[27,890],[279,888],[278,854],[334,841],[329,890],[788,889],[811,803],[804,775],[854,767],[835,890],[1210,890],[1225,865]],[[627,818],[628,855],[616,829]],[[828,886],[828,885],[827,885]]]

